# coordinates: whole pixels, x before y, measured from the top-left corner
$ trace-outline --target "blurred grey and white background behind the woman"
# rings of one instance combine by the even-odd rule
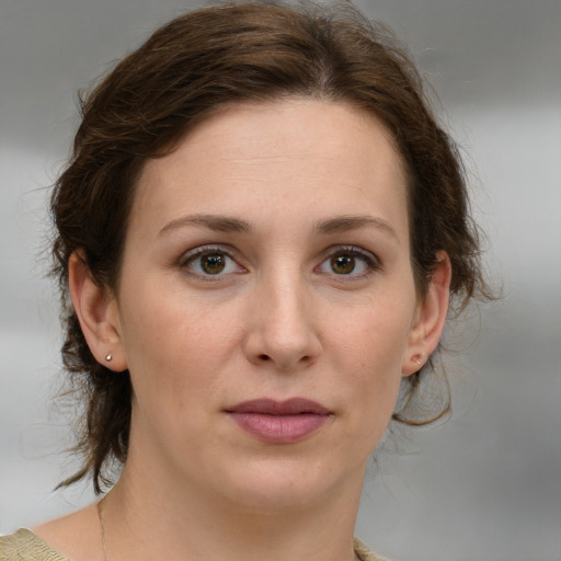
[[[76,510],[47,268],[80,88],[180,0],[0,0],[0,534]],[[561,2],[357,1],[410,45],[467,156],[500,305],[448,360],[455,413],[390,436],[357,535],[393,561],[561,559]],[[477,324],[480,328],[478,330]]]

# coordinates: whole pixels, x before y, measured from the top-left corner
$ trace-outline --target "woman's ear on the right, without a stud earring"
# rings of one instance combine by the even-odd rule
[[[401,374],[410,376],[419,371],[438,345],[448,314],[451,265],[448,254],[440,251],[426,296],[417,305],[413,327]]]

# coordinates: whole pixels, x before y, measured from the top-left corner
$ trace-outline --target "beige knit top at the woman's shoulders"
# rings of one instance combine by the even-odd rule
[[[385,561],[369,551],[357,538],[355,538],[355,552],[360,561]],[[20,529],[11,536],[0,537],[0,561],[68,561],[68,559],[32,531]]]

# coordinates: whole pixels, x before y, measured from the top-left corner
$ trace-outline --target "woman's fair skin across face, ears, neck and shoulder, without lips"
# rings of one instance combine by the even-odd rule
[[[115,293],[70,262],[90,347],[135,391],[103,506],[110,561],[351,561],[368,457],[448,306],[445,254],[426,297],[415,289],[389,133],[341,103],[233,105],[146,164],[130,218]],[[205,270],[217,255],[225,268]],[[294,397],[330,415],[293,444],[227,413]],[[92,508],[36,531],[76,561],[100,552]]]

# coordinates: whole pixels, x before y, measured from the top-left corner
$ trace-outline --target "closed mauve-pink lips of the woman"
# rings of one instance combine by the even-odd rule
[[[291,444],[318,431],[332,413],[304,398],[287,401],[255,399],[227,410],[245,432],[271,444]]]

